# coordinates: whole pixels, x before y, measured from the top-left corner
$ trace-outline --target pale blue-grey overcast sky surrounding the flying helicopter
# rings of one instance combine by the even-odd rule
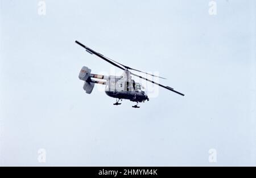
[[[0,2],[1,166],[256,165],[254,0]],[[75,40],[185,96],[86,94],[82,66],[121,70]]]

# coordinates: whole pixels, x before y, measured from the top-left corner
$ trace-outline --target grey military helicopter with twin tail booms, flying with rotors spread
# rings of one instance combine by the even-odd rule
[[[86,66],[83,66],[79,73],[79,79],[84,81],[84,90],[86,94],[91,94],[94,88],[94,84],[104,84],[105,87],[105,93],[106,95],[115,98],[116,102],[113,105],[120,105],[119,101],[123,99],[127,99],[130,101],[134,101],[137,104],[133,105],[133,108],[140,108],[138,106],[138,103],[144,103],[144,101],[149,101],[148,96],[146,95],[145,91],[143,91],[143,86],[141,83],[135,82],[134,79],[132,79],[131,76],[139,77],[141,79],[146,80],[147,82],[154,83],[160,87],[166,88],[167,90],[170,90],[172,92],[175,92],[176,94],[179,94],[181,96],[184,96],[184,94],[181,94],[178,91],[175,91],[174,88],[163,86],[162,84],[156,83],[150,79],[144,78],[141,75],[137,75],[132,73],[130,70],[134,70],[140,73],[144,73],[147,75],[151,75],[152,77],[158,77],[162,79],[166,79],[163,77],[159,77],[153,74],[146,73],[141,70],[133,69],[129,66],[123,65],[117,61],[114,61],[108,57],[105,57],[104,55],[88,48],[84,44],[81,44],[79,41],[75,41],[75,43],[79,44],[83,48],[85,48],[86,52],[89,54],[95,54],[96,56],[100,57],[102,60],[111,63],[115,67],[118,67],[119,69],[123,70],[123,73],[121,76],[115,76],[115,75],[98,75],[98,74],[92,74],[91,69],[89,69]],[[95,80],[100,79],[100,80]]]

